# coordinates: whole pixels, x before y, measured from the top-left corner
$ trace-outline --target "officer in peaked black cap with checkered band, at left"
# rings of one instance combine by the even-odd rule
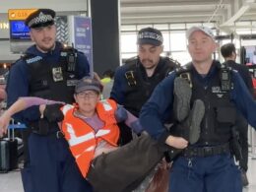
[[[56,41],[55,12],[38,9],[26,20],[34,44],[24,57],[14,63],[7,85],[8,105],[20,96],[39,96],[71,103],[78,79],[88,76],[86,56]],[[31,130],[29,159],[22,170],[26,192],[90,191],[68,144],[58,134],[57,121],[62,120],[59,106],[46,107],[40,115],[37,106],[15,115]],[[25,141],[26,142],[26,141]]]

